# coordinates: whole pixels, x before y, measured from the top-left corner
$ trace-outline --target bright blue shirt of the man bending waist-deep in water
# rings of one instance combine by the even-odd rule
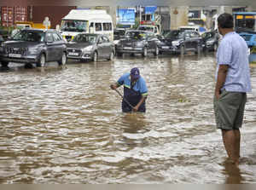
[[[126,88],[131,89],[130,73],[128,72],[128,73],[125,73],[124,75],[122,75],[118,80],[118,84],[119,85],[124,84],[124,86]],[[144,78],[142,78],[142,76],[137,79],[137,82],[134,84],[133,89],[135,91],[139,92],[143,96],[148,95],[148,88],[147,88],[146,82],[145,82]]]

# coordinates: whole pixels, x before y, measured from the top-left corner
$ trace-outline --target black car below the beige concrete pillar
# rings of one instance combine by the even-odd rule
[[[159,49],[162,52],[185,54],[187,51],[200,53],[202,50],[202,38],[195,31],[173,30],[165,32],[160,39]]]

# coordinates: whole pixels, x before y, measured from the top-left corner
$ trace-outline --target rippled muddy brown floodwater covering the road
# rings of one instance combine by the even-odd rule
[[[0,72],[0,183],[255,183],[256,68],[236,168],[215,128],[214,57],[12,64]],[[122,113],[109,89],[133,66],[148,84],[145,114]]]

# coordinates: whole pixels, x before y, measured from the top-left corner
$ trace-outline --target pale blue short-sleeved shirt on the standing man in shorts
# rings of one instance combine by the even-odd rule
[[[222,88],[230,92],[251,92],[250,67],[247,55],[247,43],[236,32],[224,35],[217,51],[218,78],[219,65],[228,65],[226,80]]]

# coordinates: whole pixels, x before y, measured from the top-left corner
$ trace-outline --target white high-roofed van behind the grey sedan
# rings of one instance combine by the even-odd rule
[[[113,20],[106,10],[73,9],[62,18],[60,29],[67,41],[81,32],[104,34],[113,41]]]

